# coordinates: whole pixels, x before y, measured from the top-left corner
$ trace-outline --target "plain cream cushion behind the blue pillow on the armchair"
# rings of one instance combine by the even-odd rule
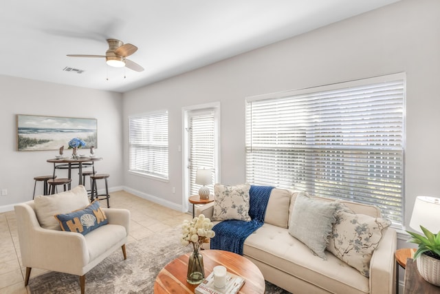
[[[36,218],[41,227],[61,231],[59,222],[54,218],[58,213],[69,213],[89,205],[89,197],[84,186],[48,196],[36,196],[34,200]]]

